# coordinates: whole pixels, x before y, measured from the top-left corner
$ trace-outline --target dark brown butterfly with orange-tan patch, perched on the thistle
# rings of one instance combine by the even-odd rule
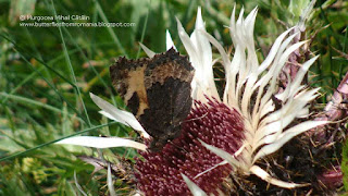
[[[181,133],[192,99],[194,68],[173,48],[153,58],[119,58],[110,66],[112,84],[128,109],[153,138],[151,151],[161,150]]]

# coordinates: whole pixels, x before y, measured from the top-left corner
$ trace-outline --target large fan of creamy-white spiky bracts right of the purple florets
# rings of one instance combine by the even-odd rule
[[[289,126],[295,119],[308,115],[308,103],[318,96],[318,88],[308,89],[307,86],[301,85],[304,74],[318,57],[304,62],[296,78],[288,79],[286,89],[278,93],[277,84],[279,81],[277,76],[289,54],[306,41],[290,45],[297,35],[289,36],[289,32],[293,29],[290,28],[278,36],[266,59],[259,64],[253,41],[257,11],[257,8],[253,9],[244,19],[244,10],[241,10],[238,20],[235,21],[235,9],[233,10],[229,30],[235,52],[232,60],[219,41],[206,32],[200,9],[198,9],[196,28],[190,38],[179,21],[177,21],[177,28],[196,72],[191,85],[192,91],[196,94],[192,97],[204,101],[206,98],[202,95],[207,95],[219,100],[212,78],[213,61],[211,46],[208,44],[210,41],[221,53],[222,64],[225,69],[226,86],[223,102],[236,109],[244,119],[246,138],[238,159],[209,144],[203,145],[228,161],[241,174],[254,173],[269,183],[294,188],[299,185],[272,179],[254,163],[260,158],[278,150],[296,135],[327,123],[325,121],[304,121]],[[275,108],[272,96],[282,101],[283,106],[279,109]]]

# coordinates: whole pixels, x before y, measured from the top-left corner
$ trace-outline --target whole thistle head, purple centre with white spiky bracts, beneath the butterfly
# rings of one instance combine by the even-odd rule
[[[137,160],[135,175],[138,188],[147,195],[179,195],[189,191],[226,193],[228,191],[223,184],[231,173],[256,174],[286,188],[298,186],[271,177],[257,163],[294,136],[326,123],[306,120],[294,123],[296,119],[309,114],[308,105],[318,96],[318,89],[301,85],[318,57],[304,62],[294,79],[287,76],[286,88],[279,90],[278,75],[283,66],[291,52],[306,41],[291,45],[297,34],[289,35],[294,29],[290,28],[276,38],[268,57],[259,63],[253,41],[257,9],[246,19],[243,15],[244,10],[236,20],[234,9],[231,16],[228,28],[235,49],[232,59],[223,46],[206,32],[200,8],[190,36],[177,20],[179,38],[195,69],[191,112],[182,123],[181,135],[159,152],[144,150],[144,144],[122,143],[144,150],[140,152],[142,158]],[[167,49],[174,47],[169,33],[166,45]],[[225,70],[226,83],[222,97],[213,77],[213,65],[217,60],[212,58],[212,46],[219,50],[219,61]],[[150,49],[141,47],[150,58],[154,56]],[[150,138],[133,114],[94,95],[91,97],[102,109],[102,114],[140,131],[145,140]],[[117,139],[120,144],[121,138]],[[89,146],[92,146],[91,143]],[[111,146],[115,145],[110,143]]]

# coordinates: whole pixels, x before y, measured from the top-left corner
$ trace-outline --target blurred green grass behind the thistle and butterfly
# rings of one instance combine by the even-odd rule
[[[105,172],[92,175],[94,168],[76,156],[108,160],[133,158],[132,149],[94,150],[52,145],[75,134],[136,137],[117,123],[110,124],[98,113],[89,91],[122,106],[109,77],[112,60],[145,57],[139,44],[156,52],[165,50],[165,30],[172,34],[182,53],[175,17],[190,34],[197,7],[202,8],[207,30],[223,46],[232,45],[228,25],[234,3],[249,13],[259,8],[256,42],[260,61],[272,42],[295,25],[308,0],[0,0],[0,195],[108,195]],[[133,27],[23,27],[21,15],[87,15],[85,22],[135,23]],[[45,22],[45,21],[44,21]],[[51,22],[51,21],[50,21]],[[58,21],[57,21],[58,22]],[[321,103],[348,70],[348,2],[320,0],[308,23],[311,51],[321,54],[311,70],[311,84],[321,86]],[[110,126],[109,126],[110,125]],[[347,157],[347,156],[344,156]],[[75,176],[74,176],[75,174]],[[128,188],[116,181],[117,194]]]

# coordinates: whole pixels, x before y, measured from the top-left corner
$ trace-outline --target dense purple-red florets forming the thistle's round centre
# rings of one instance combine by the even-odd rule
[[[198,139],[233,155],[241,146],[243,138],[243,119],[235,109],[216,100],[196,101],[182,124],[181,136],[159,152],[140,152],[144,159],[136,163],[138,188],[146,195],[187,195],[190,192],[181,175],[183,173],[207,194],[217,194],[217,189],[223,191],[222,183],[232,167],[219,166],[195,179],[223,161]]]

